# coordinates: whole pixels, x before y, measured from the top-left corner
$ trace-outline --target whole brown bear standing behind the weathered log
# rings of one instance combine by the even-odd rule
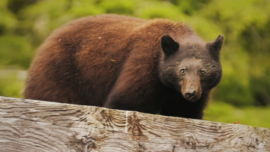
[[[39,47],[25,98],[203,118],[222,76],[223,35],[205,43],[169,19],[82,17]]]

